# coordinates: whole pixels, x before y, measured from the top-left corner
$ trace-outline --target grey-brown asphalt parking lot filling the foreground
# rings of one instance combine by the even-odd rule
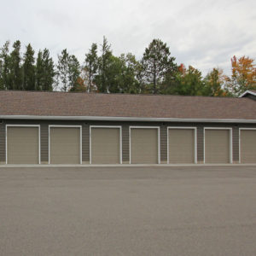
[[[256,166],[2,167],[0,255],[256,255]]]

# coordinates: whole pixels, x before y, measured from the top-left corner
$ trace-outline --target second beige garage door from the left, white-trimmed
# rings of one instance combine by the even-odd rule
[[[49,163],[80,164],[80,128],[49,128]]]

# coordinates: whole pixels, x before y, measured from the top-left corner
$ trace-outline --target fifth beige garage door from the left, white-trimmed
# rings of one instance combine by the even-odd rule
[[[195,163],[195,130],[169,129],[169,163]]]

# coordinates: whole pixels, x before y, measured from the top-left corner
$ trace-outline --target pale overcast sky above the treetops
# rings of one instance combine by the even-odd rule
[[[153,38],[171,49],[177,63],[206,74],[230,73],[233,55],[256,58],[255,0],[0,0],[0,44],[20,39],[36,50],[61,49],[80,62],[105,35],[113,54],[140,58]]]

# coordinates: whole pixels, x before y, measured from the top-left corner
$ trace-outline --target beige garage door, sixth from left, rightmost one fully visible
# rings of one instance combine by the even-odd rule
[[[230,163],[230,130],[205,130],[205,162]]]

